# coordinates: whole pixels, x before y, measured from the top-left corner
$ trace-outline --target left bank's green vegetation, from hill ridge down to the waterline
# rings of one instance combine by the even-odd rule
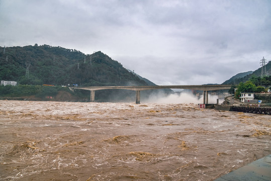
[[[27,74],[28,66],[29,73]],[[68,84],[69,86],[75,86],[75,84],[78,86],[120,86],[152,83],[129,72],[119,62],[101,51],[86,55],[75,49],[37,44],[24,47],[0,47],[0,79],[19,83],[16,87],[1,86],[1,99],[27,97],[24,100],[37,100],[37,98],[48,100],[49,97],[52,101],[89,101],[89,91],[77,90],[72,93],[67,87],[61,88]],[[54,86],[47,87],[42,86],[43,84]],[[158,91],[145,91],[141,94],[141,98],[147,98],[152,92]],[[121,89],[101,90],[96,92],[95,100],[133,102],[135,92]]]

